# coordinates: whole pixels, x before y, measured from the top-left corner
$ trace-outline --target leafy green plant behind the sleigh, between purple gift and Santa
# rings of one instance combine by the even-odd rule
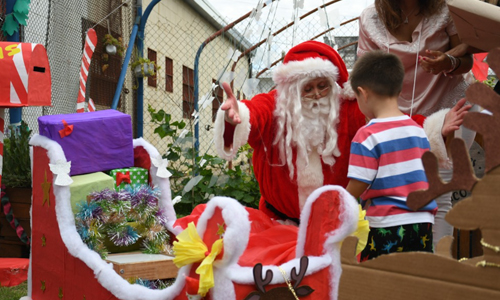
[[[163,157],[169,160],[168,170],[172,173],[172,197],[181,197],[176,204],[179,217],[190,214],[196,205],[213,196],[232,197],[245,206],[258,207],[260,192],[250,163],[250,146],[239,150],[238,156],[243,158],[240,164],[227,168],[223,159],[195,151],[192,123],[188,130],[184,121],[172,122],[171,115],[162,109],[156,111],[149,105],[148,111],[156,125],[154,132],[168,140]]]

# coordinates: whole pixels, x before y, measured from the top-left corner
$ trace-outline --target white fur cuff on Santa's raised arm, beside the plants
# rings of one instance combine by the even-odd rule
[[[248,136],[250,135],[250,111],[248,107],[238,102],[238,109],[240,113],[241,123],[236,125],[233,136],[233,145],[230,149],[224,147],[224,131],[226,129],[224,113],[222,109],[217,112],[217,118],[215,119],[214,128],[214,144],[217,154],[224,158],[225,160],[232,160],[238,149],[245,145],[248,141]]]

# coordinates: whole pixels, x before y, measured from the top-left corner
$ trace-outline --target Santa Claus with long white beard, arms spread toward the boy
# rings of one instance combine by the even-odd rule
[[[307,41],[291,48],[274,69],[275,90],[237,101],[223,83],[227,100],[215,122],[218,154],[231,160],[239,147],[250,144],[262,195],[259,209],[271,218],[298,223],[313,190],[347,185],[351,140],[366,124],[356,101],[350,101],[354,94],[347,79],[346,66],[332,47]],[[445,115],[430,116],[424,124],[441,159],[446,156]]]

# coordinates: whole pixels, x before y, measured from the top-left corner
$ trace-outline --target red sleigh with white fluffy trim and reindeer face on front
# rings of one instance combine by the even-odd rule
[[[186,278],[198,279],[195,273],[198,263],[180,268],[172,286],[151,290],[128,283],[111,264],[90,250],[76,231],[69,188],[55,185],[55,175],[50,171],[49,163],[66,160],[64,151],[58,143],[39,135],[31,144],[34,146],[31,299],[188,299]],[[142,139],[134,140],[134,147],[149,157],[159,155]],[[165,209],[169,229],[179,234],[183,228],[174,227],[176,217],[168,178],[159,178],[156,172],[157,168],[151,165],[152,182],[161,190],[160,206]],[[289,284],[296,291],[310,294],[306,299],[336,299],[341,275],[340,244],[358,222],[355,199],[335,186],[316,190],[304,206],[298,228],[271,220],[264,226],[252,218],[254,213],[249,214],[236,200],[226,197],[214,197],[197,218],[196,230],[208,249],[220,238],[221,225],[224,228],[223,253],[213,263],[215,284],[206,299],[293,299],[285,277],[291,278]],[[290,247],[279,263],[270,264],[268,258],[252,254],[258,253],[255,251],[259,245],[262,249],[272,246],[260,234],[282,230],[288,232]],[[240,264],[245,257],[246,265]],[[260,262],[262,267],[253,261]],[[276,258],[273,261],[277,262]]]

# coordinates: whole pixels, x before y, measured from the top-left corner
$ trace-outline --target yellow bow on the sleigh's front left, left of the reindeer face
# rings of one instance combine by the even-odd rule
[[[192,263],[201,262],[196,269],[200,275],[200,286],[198,294],[202,297],[214,286],[213,263],[217,255],[222,252],[223,242],[218,239],[212,244],[212,251],[208,252],[207,245],[198,235],[194,223],[188,224],[187,229],[177,235],[178,242],[174,242],[175,258],[173,260],[177,267],[183,267]]]

